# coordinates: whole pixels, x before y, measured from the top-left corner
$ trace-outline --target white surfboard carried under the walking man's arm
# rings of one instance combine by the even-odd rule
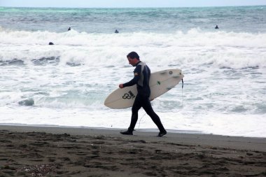
[[[151,73],[150,88],[153,100],[176,86],[182,79],[183,74],[180,69],[167,69]],[[109,108],[129,108],[133,106],[134,99],[137,96],[137,85],[131,87],[118,88],[111,92],[105,99],[104,105]]]

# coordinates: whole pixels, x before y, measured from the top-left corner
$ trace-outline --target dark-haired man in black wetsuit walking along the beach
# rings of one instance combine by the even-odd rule
[[[138,120],[138,112],[139,109],[142,107],[160,130],[158,136],[164,136],[165,134],[167,134],[167,132],[164,126],[162,125],[159,116],[153,111],[153,108],[151,107],[151,101],[149,99],[151,95],[151,89],[149,86],[151,70],[144,62],[141,62],[139,60],[139,55],[137,54],[137,52],[130,52],[127,55],[127,59],[132,66],[136,67],[134,69],[134,78],[128,83],[120,84],[119,87],[130,87],[132,85],[137,84],[138,94],[132,106],[130,127],[125,132],[120,133],[133,135],[133,130]]]

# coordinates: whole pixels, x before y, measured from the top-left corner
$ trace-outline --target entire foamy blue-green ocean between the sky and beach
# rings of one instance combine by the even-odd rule
[[[266,137],[266,6],[0,7],[0,124],[127,129],[104,100],[132,51],[183,71],[152,101],[168,132]],[[135,129],[158,132],[142,109]]]

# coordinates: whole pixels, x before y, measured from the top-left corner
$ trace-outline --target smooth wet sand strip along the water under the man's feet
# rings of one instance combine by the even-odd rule
[[[245,136],[223,136],[216,134],[194,134],[186,132],[167,132],[163,137],[157,137],[158,131],[138,129],[133,136],[120,134],[123,129],[109,129],[102,127],[57,127],[35,125],[0,125],[0,130],[11,132],[45,132],[50,134],[72,134],[85,136],[117,136],[125,139],[148,139],[150,141],[165,141],[167,143],[189,143],[223,148],[238,148],[248,150],[261,150],[266,152],[266,138]]]

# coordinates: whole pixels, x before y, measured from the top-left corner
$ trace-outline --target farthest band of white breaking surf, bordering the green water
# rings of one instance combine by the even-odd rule
[[[190,29],[187,32],[176,31],[172,34],[158,33],[125,33],[125,34],[88,34],[75,30],[62,33],[50,31],[13,31],[0,28],[1,43],[46,45],[52,41],[57,45],[85,45],[85,46],[132,46],[148,45],[168,47],[171,45],[206,46],[226,45],[232,47],[266,47],[266,34],[236,33],[226,31],[202,31]]]

